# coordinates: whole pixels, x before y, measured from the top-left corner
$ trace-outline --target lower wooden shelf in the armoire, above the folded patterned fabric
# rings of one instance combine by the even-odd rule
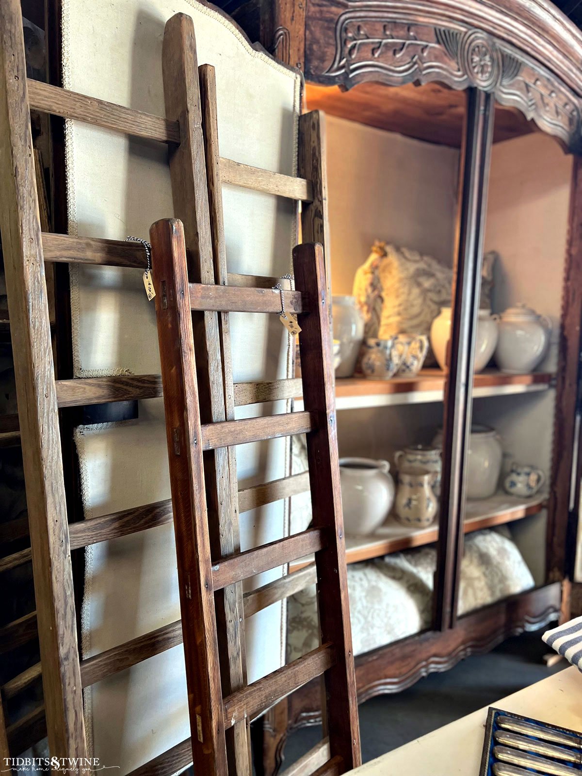
[[[547,494],[537,494],[522,499],[508,496],[498,491],[494,496],[480,501],[467,501],[466,518],[463,525],[465,533],[480,531],[482,528],[494,528],[497,525],[521,520],[530,514],[537,514],[546,507]],[[428,528],[408,528],[390,516],[384,525],[369,536],[346,536],[345,550],[347,563],[359,563],[362,560],[378,558],[390,553],[400,553],[403,549],[433,544],[438,539],[438,522]],[[307,566],[311,558],[300,558],[289,563],[289,572]]]

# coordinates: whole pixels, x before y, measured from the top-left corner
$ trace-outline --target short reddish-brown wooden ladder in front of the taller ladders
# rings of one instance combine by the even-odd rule
[[[299,339],[305,410],[201,425],[191,310],[279,314],[281,297],[269,289],[189,284],[182,223],[158,221],[150,234],[190,725],[197,731],[192,736],[195,771],[226,773],[225,729],[254,719],[324,674],[331,759],[318,773],[343,773],[359,764],[359,728],[322,248],[313,243],[295,248],[296,291],[282,292],[286,312],[297,314],[303,330]],[[265,546],[211,559],[204,452],[303,432],[314,514],[311,527]],[[310,553],[315,553],[317,568],[321,646],[223,698],[214,594]]]

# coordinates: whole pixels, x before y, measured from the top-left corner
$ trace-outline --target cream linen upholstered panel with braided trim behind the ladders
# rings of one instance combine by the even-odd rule
[[[300,83],[253,50],[234,26],[189,0],[64,0],[64,85],[134,109],[165,115],[161,47],[166,21],[192,16],[199,64],[217,71],[222,156],[296,174]],[[147,238],[154,220],[173,215],[167,148],[68,121],[71,234]],[[230,272],[283,275],[296,241],[296,207],[258,192],[223,187]],[[71,268],[76,376],[159,372],[154,304],[136,270]],[[289,341],[277,317],[231,317],[235,381],[289,375]],[[281,412],[283,404],[262,407]],[[257,407],[239,413],[253,414]],[[161,400],[140,403],[137,421],[79,428],[85,518],[168,498]],[[239,487],[285,476],[285,440],[237,449]],[[288,531],[283,503],[241,517],[241,544]],[[173,528],[103,542],[87,552],[83,656],[92,656],[179,618]],[[252,580],[265,584],[274,570]],[[273,605],[247,622],[248,679],[275,670],[284,656],[285,611]],[[85,691],[95,757],[125,774],[190,735],[182,646]]]

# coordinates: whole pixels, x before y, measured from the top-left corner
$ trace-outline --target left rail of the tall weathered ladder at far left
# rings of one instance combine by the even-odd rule
[[[0,229],[15,362],[49,749],[85,757],[74,591],[18,0],[0,6]],[[26,411],[22,408],[26,407]]]

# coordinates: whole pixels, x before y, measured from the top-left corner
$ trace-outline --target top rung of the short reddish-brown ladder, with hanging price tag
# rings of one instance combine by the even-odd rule
[[[281,293],[287,313],[301,313],[299,291],[274,291],[236,286],[206,286],[189,283],[190,308],[218,313],[280,313]]]

